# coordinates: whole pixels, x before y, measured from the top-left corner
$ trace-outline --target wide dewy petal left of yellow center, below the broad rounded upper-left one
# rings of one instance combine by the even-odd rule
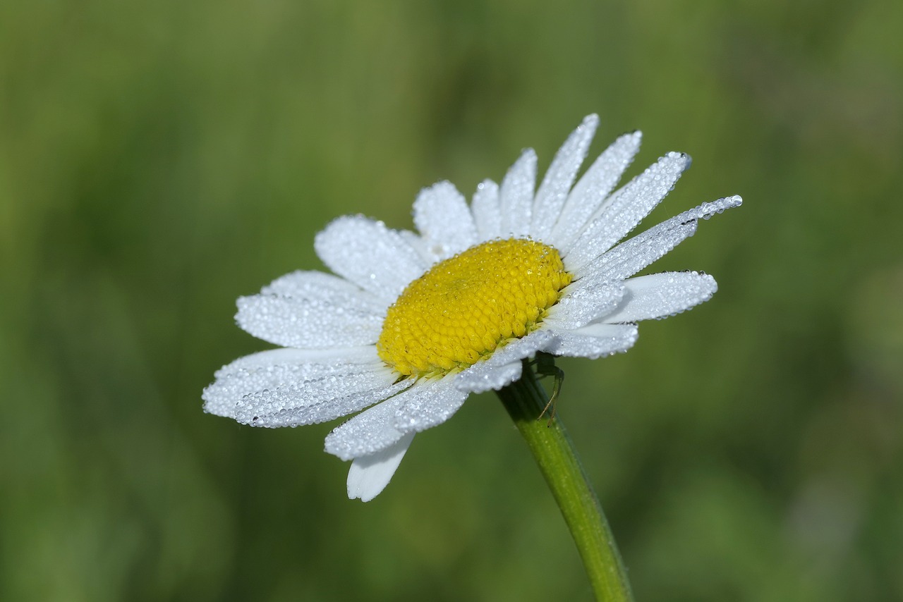
[[[322,349],[377,342],[385,310],[380,307],[382,302],[359,290],[333,288],[330,284],[334,281],[330,280],[323,279],[321,286],[314,288],[321,278],[296,275],[293,280],[307,281],[312,288],[303,291],[299,282],[293,282],[295,291],[291,295],[276,292],[281,286],[270,286],[258,295],[239,297],[235,317],[238,326],[284,347]]]

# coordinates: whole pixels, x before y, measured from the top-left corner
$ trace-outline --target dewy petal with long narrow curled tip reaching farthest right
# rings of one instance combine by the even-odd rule
[[[568,257],[565,257],[564,266],[568,271],[578,273],[582,277],[623,280],[666,255],[684,239],[693,236],[700,218],[708,219],[725,209],[740,207],[742,202],[740,197],[733,196],[703,203],[630,238],[590,264],[577,268],[570,265]]]

